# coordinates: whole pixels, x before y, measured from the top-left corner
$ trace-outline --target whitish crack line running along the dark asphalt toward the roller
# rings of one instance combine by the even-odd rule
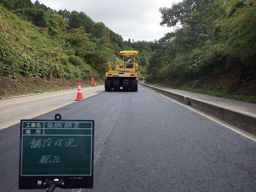
[[[124,94],[124,96],[125,96],[125,94]],[[96,158],[95,158],[93,164],[95,164],[95,162],[97,161],[98,157],[100,156],[100,152],[101,152],[101,150],[102,150],[102,147],[103,147],[103,145],[104,145],[104,142],[105,142],[107,136],[108,136],[108,135],[110,134],[110,132],[112,131],[116,120],[118,119],[117,117],[118,117],[119,114],[120,114],[120,110],[118,110],[118,109],[121,108],[122,103],[123,103],[123,100],[124,100],[124,97],[122,98],[122,101],[120,102],[119,106],[115,108],[114,113],[110,116],[110,119],[109,119],[108,122],[106,123],[105,131],[104,131],[104,133],[103,133],[102,136],[101,136],[101,138],[103,139],[103,141],[102,141],[102,144],[100,145],[100,150],[99,150],[99,152],[98,152],[98,154],[97,154],[97,156],[96,156]]]

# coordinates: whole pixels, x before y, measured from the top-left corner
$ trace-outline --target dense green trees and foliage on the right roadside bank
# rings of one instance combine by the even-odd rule
[[[160,12],[161,25],[179,25],[152,45],[147,82],[201,89],[221,78],[208,89],[255,98],[255,0],[183,0]]]

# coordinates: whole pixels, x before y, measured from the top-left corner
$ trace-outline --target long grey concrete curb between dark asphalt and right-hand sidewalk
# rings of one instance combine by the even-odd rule
[[[159,92],[160,94],[173,98],[174,100],[177,100],[183,104],[190,105],[195,109],[198,109],[229,124],[232,124],[242,130],[256,135],[256,114],[244,112],[223,105],[218,105],[216,103],[200,100],[198,98],[193,98],[190,96],[162,90],[154,86],[146,84],[141,85],[156,92]]]

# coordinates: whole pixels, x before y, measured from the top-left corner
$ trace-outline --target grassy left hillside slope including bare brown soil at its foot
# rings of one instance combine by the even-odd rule
[[[100,74],[68,47],[68,37],[65,31],[52,37],[0,6],[0,97],[74,88],[77,82],[89,86],[92,76],[100,82]]]

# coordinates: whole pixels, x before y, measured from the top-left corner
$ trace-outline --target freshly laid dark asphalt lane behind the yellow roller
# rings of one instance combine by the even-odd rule
[[[95,120],[94,188],[55,192],[256,191],[256,142],[143,86],[36,119],[57,113]],[[20,124],[0,131],[0,191],[45,192],[18,190],[19,142]]]

